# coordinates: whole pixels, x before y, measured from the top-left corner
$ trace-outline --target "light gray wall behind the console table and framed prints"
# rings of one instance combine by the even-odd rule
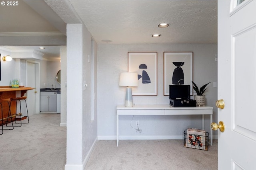
[[[215,106],[217,88],[217,53],[216,44],[134,44],[134,45],[98,45],[98,139],[115,139],[116,137],[116,105],[124,104],[125,87],[118,86],[121,72],[128,71],[128,52],[157,52],[157,96],[133,96],[135,104],[169,104],[168,96],[163,95],[163,53],[193,52],[194,82],[202,86],[208,82],[205,92],[206,105]],[[193,96],[192,96],[193,98]],[[167,115],[167,116],[134,116],[132,125],[140,121],[142,133],[130,127],[131,116],[120,116],[121,136],[155,136],[156,139],[180,139],[188,127],[202,128],[200,115]],[[214,107],[213,121],[217,122],[217,109]],[[205,116],[205,129],[210,132],[210,116]],[[214,135],[217,135],[214,132]]]

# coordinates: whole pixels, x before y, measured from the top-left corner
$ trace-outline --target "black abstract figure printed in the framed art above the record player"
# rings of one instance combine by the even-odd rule
[[[184,84],[184,72],[181,68],[181,66],[184,65],[184,62],[172,62],[176,68],[173,71],[172,74],[172,84]]]

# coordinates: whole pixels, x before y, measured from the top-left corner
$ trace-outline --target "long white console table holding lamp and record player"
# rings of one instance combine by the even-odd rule
[[[118,105],[116,107],[116,146],[118,147],[119,136],[119,115],[202,115],[202,129],[204,129],[204,115],[210,115],[212,122],[213,107],[172,107],[170,105],[135,105],[133,107],[125,107]],[[210,125],[209,125],[210,126]],[[211,145],[212,145],[212,129],[210,129]]]

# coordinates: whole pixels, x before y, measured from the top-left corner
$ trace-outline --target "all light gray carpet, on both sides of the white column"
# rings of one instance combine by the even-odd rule
[[[217,170],[217,140],[208,151],[183,140],[97,141],[85,170]],[[0,135],[0,170],[64,170],[66,127],[60,114],[30,116],[29,124]]]

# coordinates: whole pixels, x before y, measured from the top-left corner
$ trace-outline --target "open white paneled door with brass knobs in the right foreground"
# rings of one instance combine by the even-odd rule
[[[256,0],[218,0],[219,170],[256,169],[255,86]]]

